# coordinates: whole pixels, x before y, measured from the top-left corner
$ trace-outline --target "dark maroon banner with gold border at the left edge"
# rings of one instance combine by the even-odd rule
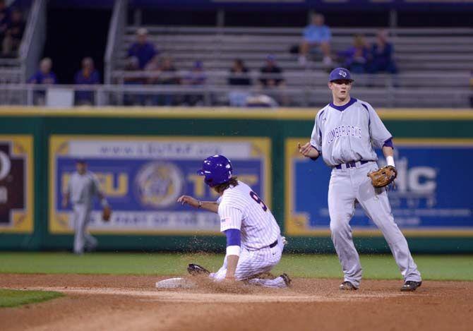
[[[0,233],[33,231],[33,138],[0,136]]]

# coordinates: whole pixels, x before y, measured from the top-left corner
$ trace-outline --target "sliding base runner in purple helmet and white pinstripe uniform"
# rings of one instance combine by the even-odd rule
[[[256,277],[270,272],[279,263],[284,248],[280,227],[268,206],[246,183],[232,175],[232,164],[227,157],[206,158],[198,174],[204,176],[205,183],[219,193],[220,198],[216,202],[200,201],[182,195],[177,201],[217,212],[220,216],[220,231],[227,236],[227,254],[220,270],[210,273],[209,277],[216,281],[248,281],[265,287],[289,286],[291,279],[286,274],[275,279]]]

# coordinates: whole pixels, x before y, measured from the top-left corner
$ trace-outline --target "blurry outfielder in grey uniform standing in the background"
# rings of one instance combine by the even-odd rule
[[[76,161],[76,172],[69,180],[66,192],[64,193],[62,206],[67,207],[69,200],[73,207],[74,224],[74,253],[83,254],[84,250],[93,251],[97,247],[97,239],[87,231],[90,222],[90,212],[92,210],[92,199],[94,196],[100,199],[102,207],[107,207],[107,199],[100,191],[100,184],[92,172],[87,170],[84,160]]]

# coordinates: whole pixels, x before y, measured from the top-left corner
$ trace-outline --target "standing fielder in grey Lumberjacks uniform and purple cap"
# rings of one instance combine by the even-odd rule
[[[374,188],[367,176],[378,169],[373,147],[382,148],[386,163],[395,167],[393,137],[369,103],[350,97],[353,81],[345,68],[330,73],[328,88],[333,102],[317,113],[311,141],[299,144],[299,152],[312,160],[322,155],[332,168],[328,211],[333,244],[345,274],[340,289],[358,289],[361,281],[359,255],[349,226],[355,204],[359,203],[388,241],[405,280],[401,291],[414,291],[421,286],[420,272],[394,222],[386,189]]]

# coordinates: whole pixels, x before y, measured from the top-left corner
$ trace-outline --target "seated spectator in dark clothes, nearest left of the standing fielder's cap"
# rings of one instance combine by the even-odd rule
[[[265,66],[260,69],[260,72],[259,83],[261,88],[263,88],[266,93],[270,94],[270,97],[275,97],[280,104],[287,105],[285,79],[282,76],[282,69],[276,64],[274,55],[270,54],[266,57]],[[277,90],[277,93],[274,92],[275,90]]]

